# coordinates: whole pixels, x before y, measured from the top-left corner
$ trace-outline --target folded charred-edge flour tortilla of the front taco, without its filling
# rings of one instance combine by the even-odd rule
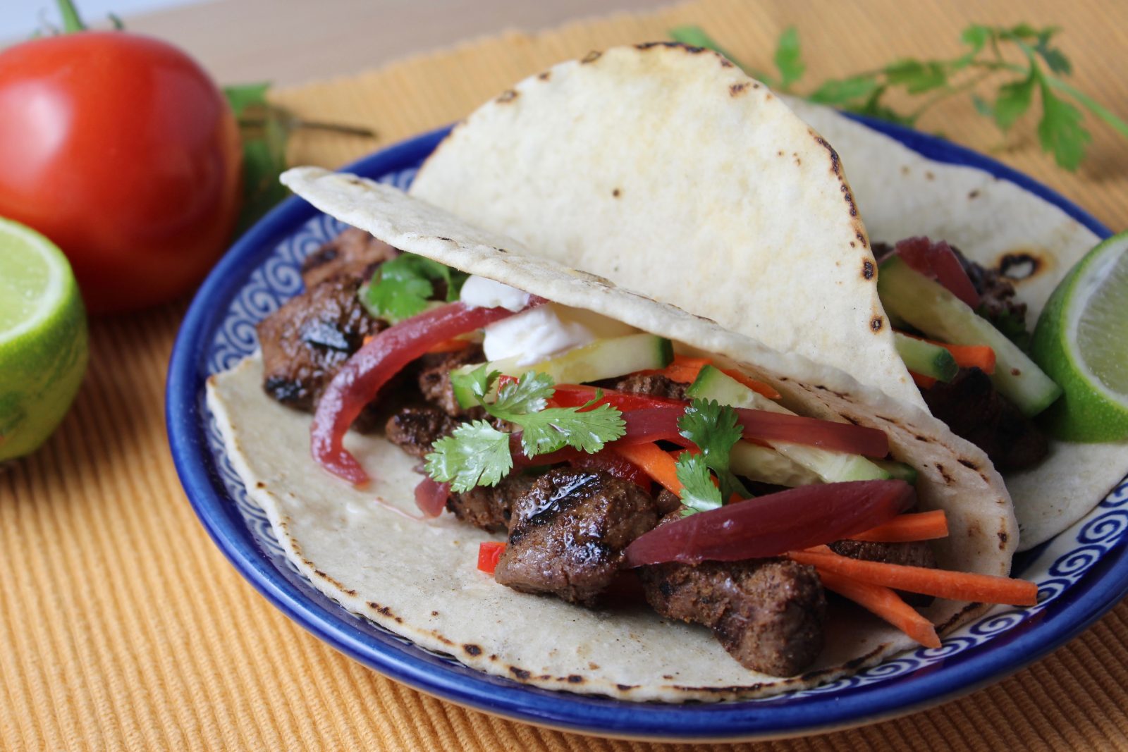
[[[283,182],[318,209],[390,245],[584,308],[702,352],[731,359],[775,386],[792,407],[885,431],[893,455],[920,471],[923,508],[948,512],[942,566],[1005,575],[1016,540],[1002,479],[975,446],[923,410],[836,369],[654,302],[600,277],[538,258],[514,239],[479,230],[386,185],[317,168]],[[213,375],[208,404],[232,463],[273,524],[287,556],[345,608],[482,671],[538,687],[629,700],[715,701],[810,687],[913,646],[883,622],[835,613],[827,647],[805,674],[750,672],[707,629],[650,610],[593,611],[518,593],[476,570],[477,546],[494,539],[451,515],[414,513],[418,476],[385,439],[351,433],[345,445],[376,480],[363,492],[310,459],[308,415],[268,399],[257,357]],[[379,499],[379,501],[376,501]],[[927,614],[949,631],[982,609],[937,601]]]

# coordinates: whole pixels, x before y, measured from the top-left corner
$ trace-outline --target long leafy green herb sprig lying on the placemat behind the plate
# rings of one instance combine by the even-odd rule
[[[1030,110],[1037,94],[1041,103],[1037,132],[1042,151],[1052,154],[1058,166],[1075,170],[1085,158],[1086,144],[1092,140],[1083,125],[1082,112],[1075,104],[1125,138],[1128,138],[1128,123],[1064,80],[1073,72],[1073,65],[1052,44],[1059,32],[1055,26],[1036,28],[1029,24],[1010,27],[973,24],[960,36],[966,50],[959,55],[940,60],[896,60],[875,70],[823,81],[801,96],[862,115],[916,126],[937,103],[967,94],[971,96],[976,110],[990,117],[1006,134]],[[741,65],[698,26],[671,29],[670,36],[685,44],[716,50]],[[795,27],[784,29],[779,36],[774,62],[778,76],[744,65],[741,68],[779,91],[800,94],[793,87],[802,79],[805,64]],[[995,87],[994,97],[985,98],[979,92],[988,85]],[[922,97],[922,100],[908,112],[897,109],[887,99],[887,95],[893,91]]]

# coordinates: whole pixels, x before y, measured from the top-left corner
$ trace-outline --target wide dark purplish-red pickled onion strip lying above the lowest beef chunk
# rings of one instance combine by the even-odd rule
[[[870,530],[911,506],[914,496],[904,480],[788,488],[660,525],[627,547],[626,563],[636,567],[779,556]]]

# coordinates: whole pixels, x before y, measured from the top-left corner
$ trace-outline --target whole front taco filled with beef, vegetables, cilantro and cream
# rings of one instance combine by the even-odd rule
[[[881,568],[865,560],[898,551],[913,565],[900,573],[932,558],[936,581],[959,570],[1036,598],[1005,580],[1017,531],[998,475],[922,409],[390,186],[317,168],[283,179],[359,230],[310,256],[307,291],[259,325],[261,355],[209,379],[208,402],[287,556],[346,609],[493,674],[685,701],[810,687],[987,608],[936,598],[927,621],[908,617],[889,587],[858,584],[872,574],[841,576],[843,561]],[[678,368],[694,371],[688,387]],[[316,406],[314,418],[292,406]],[[690,413],[712,427],[685,424]],[[346,434],[354,418],[385,431]],[[770,493],[782,486],[794,488]],[[723,504],[738,488],[756,498]],[[950,534],[857,540],[910,503]],[[500,543],[495,580],[479,557]],[[622,590],[627,569],[643,600]],[[871,605],[860,590],[878,593],[916,640],[825,586]]]

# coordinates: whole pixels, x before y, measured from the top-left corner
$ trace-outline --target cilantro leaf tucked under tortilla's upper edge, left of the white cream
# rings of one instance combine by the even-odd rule
[[[360,289],[368,312],[390,324],[422,313],[434,297],[434,284],[447,287],[447,301],[458,300],[467,274],[415,254],[400,254],[380,264]]]

